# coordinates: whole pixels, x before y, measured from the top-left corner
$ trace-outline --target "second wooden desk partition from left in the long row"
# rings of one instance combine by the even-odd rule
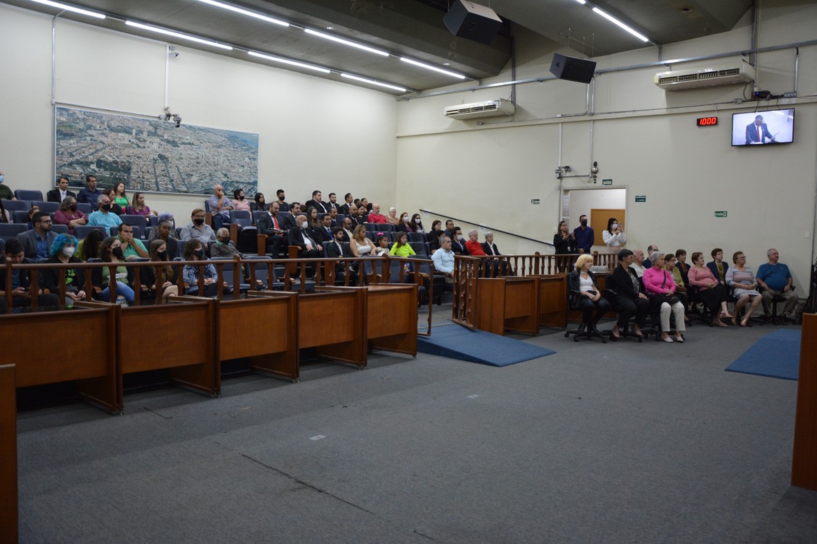
[[[216,304],[212,299],[173,297],[158,306],[117,305],[117,360],[121,374],[170,369],[173,383],[210,396],[220,395],[221,365],[215,356]]]

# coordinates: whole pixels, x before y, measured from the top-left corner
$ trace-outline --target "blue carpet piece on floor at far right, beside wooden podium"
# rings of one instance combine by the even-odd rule
[[[800,371],[800,331],[779,329],[766,334],[726,370],[797,380]]]

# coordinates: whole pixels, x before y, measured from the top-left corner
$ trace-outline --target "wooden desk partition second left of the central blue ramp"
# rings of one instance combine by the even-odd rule
[[[319,287],[316,291],[298,295],[298,347],[314,347],[321,357],[365,368],[366,290]]]

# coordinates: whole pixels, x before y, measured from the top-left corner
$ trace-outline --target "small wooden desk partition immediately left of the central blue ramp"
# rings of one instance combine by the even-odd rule
[[[366,294],[368,347],[417,356],[417,284],[370,285]]]

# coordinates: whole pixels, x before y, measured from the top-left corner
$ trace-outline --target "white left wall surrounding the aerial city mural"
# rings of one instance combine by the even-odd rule
[[[46,192],[54,186],[51,17],[0,4],[0,36],[0,170],[13,189]],[[259,190],[267,201],[283,188],[288,200],[306,201],[320,189],[324,199],[337,192],[342,201],[352,192],[394,203],[391,95],[184,46],[177,51],[168,72],[172,112],[185,124],[257,133]],[[57,20],[56,101],[158,116],[166,59],[164,42]],[[186,223],[203,198],[154,193],[146,201]]]

